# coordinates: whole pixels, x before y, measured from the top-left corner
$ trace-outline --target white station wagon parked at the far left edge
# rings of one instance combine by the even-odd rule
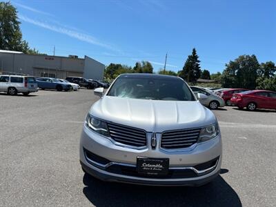
[[[30,92],[37,92],[37,81],[34,77],[21,75],[0,75],[0,92],[7,92],[9,95]]]

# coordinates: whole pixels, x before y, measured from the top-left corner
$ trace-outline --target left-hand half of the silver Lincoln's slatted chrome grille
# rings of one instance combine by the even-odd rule
[[[146,146],[146,132],[141,129],[108,123],[110,137],[121,144],[128,146]]]

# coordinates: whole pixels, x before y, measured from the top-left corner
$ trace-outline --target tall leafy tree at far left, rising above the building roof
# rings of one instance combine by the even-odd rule
[[[17,9],[10,2],[0,2],[0,49],[14,50],[26,54],[38,54],[22,39]]]

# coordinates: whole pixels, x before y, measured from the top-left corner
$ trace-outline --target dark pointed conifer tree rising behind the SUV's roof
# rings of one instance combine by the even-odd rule
[[[201,75],[199,57],[197,55],[197,50],[193,48],[192,55],[189,55],[183,70],[180,72],[179,76],[185,79],[188,82],[195,83]]]

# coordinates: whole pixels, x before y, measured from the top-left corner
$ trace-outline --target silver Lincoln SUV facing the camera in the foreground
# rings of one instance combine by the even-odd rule
[[[219,174],[221,134],[213,112],[187,83],[166,75],[124,74],[90,108],[80,161],[103,181],[201,186]],[[200,97],[200,96],[199,96]]]

